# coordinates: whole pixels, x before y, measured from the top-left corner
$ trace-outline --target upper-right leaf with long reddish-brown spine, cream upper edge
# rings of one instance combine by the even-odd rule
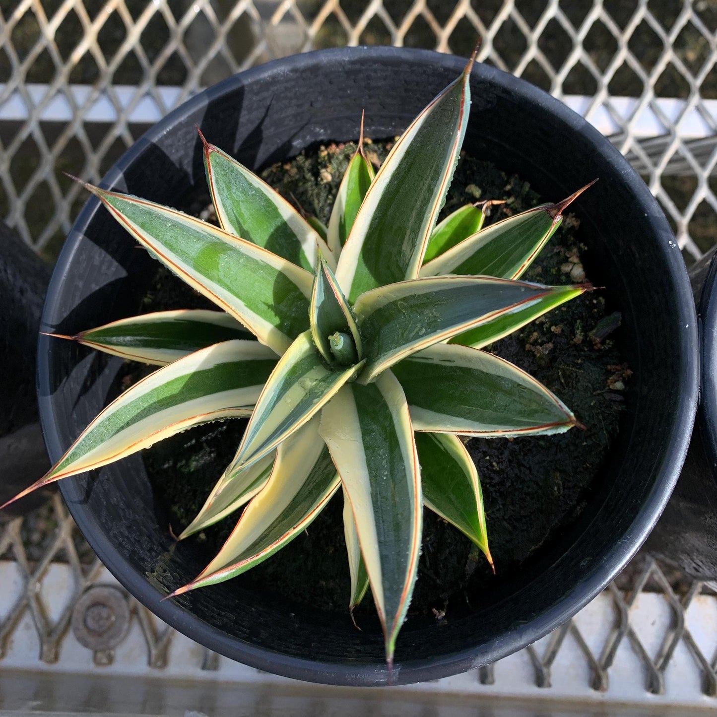
[[[592,184],[594,181],[559,204],[541,204],[491,224],[425,264],[420,275],[480,274],[517,279],[560,226],[566,207]]]

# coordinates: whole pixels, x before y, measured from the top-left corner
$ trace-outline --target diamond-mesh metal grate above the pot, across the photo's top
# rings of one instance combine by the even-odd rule
[[[316,47],[467,54],[480,34],[481,60],[612,136],[690,262],[717,243],[716,33],[715,0],[0,0],[0,214],[51,256],[84,201],[62,171],[98,181],[202,87]]]

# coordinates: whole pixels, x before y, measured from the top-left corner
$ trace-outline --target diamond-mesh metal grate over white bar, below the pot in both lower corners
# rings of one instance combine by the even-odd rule
[[[83,549],[59,495],[44,514],[55,527],[37,559],[29,547],[32,541],[23,535],[22,518],[0,528],[0,556],[6,559],[0,560],[0,670],[210,682],[277,679],[194,645],[120,592],[98,559]],[[115,625],[118,637],[107,645],[101,640],[88,645],[82,626],[108,590],[122,608],[122,614],[110,617],[126,624]],[[80,600],[83,594],[88,599]],[[110,604],[117,612],[116,602]],[[532,690],[551,699],[713,706],[705,699],[717,696],[716,611],[713,587],[638,556],[609,589],[536,645],[421,688],[442,694],[526,695]]]

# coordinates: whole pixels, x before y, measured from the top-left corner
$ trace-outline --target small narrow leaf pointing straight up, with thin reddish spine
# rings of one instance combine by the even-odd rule
[[[361,132],[359,146],[343,173],[341,185],[333,202],[331,219],[328,221],[328,247],[335,257],[341,256],[343,244],[346,244],[361,202],[374,181],[374,167],[364,154],[364,115],[361,113]]]

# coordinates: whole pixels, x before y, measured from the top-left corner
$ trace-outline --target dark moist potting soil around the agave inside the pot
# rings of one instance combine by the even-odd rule
[[[391,143],[369,143],[367,154],[382,161]],[[267,168],[263,178],[290,201],[328,224],[333,197],[355,145],[321,146],[293,161]],[[577,188],[576,188],[577,189]],[[491,163],[470,156],[460,159],[441,218],[462,204],[505,200],[490,207],[486,224],[541,203],[526,181],[508,177]],[[562,197],[550,197],[559,201]],[[545,200],[543,200],[545,201]],[[208,195],[191,198],[187,212],[212,221]],[[567,284],[587,281],[583,260],[589,252],[580,242],[579,222],[566,216],[526,275],[528,281]],[[478,467],[493,575],[483,554],[455,528],[424,510],[419,574],[411,614],[457,617],[480,595],[511,579],[540,547],[559,539],[587,504],[609,445],[617,433],[619,413],[630,377],[620,359],[619,313],[610,313],[596,290],[529,324],[488,347],[528,371],[555,391],[586,429],[562,435],[467,440]],[[214,308],[167,270],[158,270],[141,310]],[[130,383],[141,375],[133,365]],[[172,437],[143,453],[158,505],[166,509],[174,532],[196,515],[241,440],[245,421],[210,424]],[[272,592],[321,610],[346,611],[349,574],[343,541],[341,492],[292,543],[236,578],[245,588]],[[218,550],[239,513],[189,540]],[[361,619],[374,613],[371,594],[356,609]]]

